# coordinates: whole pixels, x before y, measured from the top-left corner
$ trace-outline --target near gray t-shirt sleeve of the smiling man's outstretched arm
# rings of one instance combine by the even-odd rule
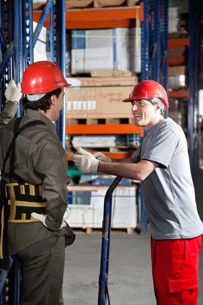
[[[177,144],[176,134],[169,128],[163,128],[153,135],[141,160],[156,162],[159,163],[159,167],[167,168]]]

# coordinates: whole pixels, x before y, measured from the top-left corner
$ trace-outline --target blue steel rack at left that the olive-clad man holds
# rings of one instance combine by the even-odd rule
[[[48,0],[38,26],[33,33],[32,0],[4,0],[0,5],[0,88],[1,109],[5,104],[4,92],[8,82],[14,78],[21,82],[23,71],[33,63],[35,46],[42,26],[50,12],[51,60],[65,76],[65,0]],[[19,102],[17,116],[22,115]],[[56,123],[56,132],[65,148],[65,100]],[[1,199],[3,203],[4,185]],[[0,273],[0,304],[20,303],[20,272],[11,259],[10,269]]]

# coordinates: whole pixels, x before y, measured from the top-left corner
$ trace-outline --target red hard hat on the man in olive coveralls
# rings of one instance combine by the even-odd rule
[[[48,93],[57,88],[69,87],[59,69],[52,62],[43,60],[31,64],[23,73],[21,92],[24,94]]]

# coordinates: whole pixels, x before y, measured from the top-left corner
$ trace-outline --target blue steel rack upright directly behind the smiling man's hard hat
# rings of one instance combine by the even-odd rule
[[[168,0],[143,0],[143,4],[141,80],[152,79],[160,82],[167,91]],[[141,231],[148,232],[148,217],[142,189]]]

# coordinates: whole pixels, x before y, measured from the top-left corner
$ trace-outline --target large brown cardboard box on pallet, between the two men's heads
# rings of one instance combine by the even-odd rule
[[[138,77],[67,78],[66,118],[129,118],[129,97]]]

